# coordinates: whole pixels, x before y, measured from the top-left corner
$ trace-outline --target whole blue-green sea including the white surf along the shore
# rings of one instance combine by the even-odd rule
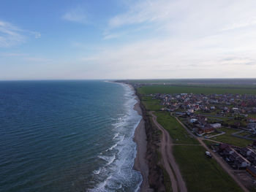
[[[113,82],[0,82],[0,191],[138,191],[135,103]]]

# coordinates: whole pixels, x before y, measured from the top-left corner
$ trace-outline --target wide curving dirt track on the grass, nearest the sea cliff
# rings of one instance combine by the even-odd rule
[[[161,140],[161,154],[163,160],[163,166],[165,166],[165,170],[169,174],[170,181],[172,183],[173,192],[181,191],[187,192],[186,184],[181,176],[181,172],[178,169],[178,165],[174,159],[172,153],[172,139],[170,138],[170,134],[157,122],[157,116],[150,112],[152,115],[152,120],[154,124],[162,131],[162,140]]]

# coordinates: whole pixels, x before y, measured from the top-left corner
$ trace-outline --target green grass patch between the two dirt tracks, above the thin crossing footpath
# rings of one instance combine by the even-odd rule
[[[157,115],[157,122],[169,132],[173,143],[198,144],[197,140],[191,137],[176,118],[170,116],[169,112],[154,112],[154,115]]]

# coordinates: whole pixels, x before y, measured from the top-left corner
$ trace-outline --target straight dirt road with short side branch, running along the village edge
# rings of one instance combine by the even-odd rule
[[[178,120],[178,118],[176,118],[176,120]],[[181,121],[178,120],[178,123],[181,123]],[[193,137],[195,137],[195,135],[192,134],[192,132],[186,126],[184,126],[183,123],[181,123],[181,126],[183,126],[189,132],[189,134],[191,134],[191,135],[193,135]],[[211,155],[216,159],[216,161],[219,163],[219,165],[222,166],[222,168],[227,172],[227,174],[229,174],[230,177],[232,177],[233,180],[236,181],[236,183],[242,188],[242,190],[244,190],[245,192],[249,192],[249,190],[244,187],[244,185],[240,182],[240,180],[238,180],[236,178],[236,176],[233,174],[230,167],[227,164],[225,164],[225,162],[222,160],[222,158],[220,158],[219,155],[216,155],[214,152],[212,152],[212,150],[210,150],[209,147],[203,142],[203,138],[200,138],[200,137],[195,137],[195,138],[197,139],[198,142],[200,142],[200,144],[203,147],[206,148],[206,150],[211,151]],[[211,140],[211,139],[206,139],[206,140],[216,142],[216,141]]]

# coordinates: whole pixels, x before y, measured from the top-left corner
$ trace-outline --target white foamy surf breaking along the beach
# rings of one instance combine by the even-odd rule
[[[139,191],[142,183],[140,172],[133,170],[133,165],[136,156],[136,144],[133,142],[135,128],[140,123],[141,116],[133,110],[136,104],[134,91],[127,85],[122,85],[124,94],[124,109],[125,114],[122,118],[116,119],[113,123],[113,131],[117,133],[113,136],[113,141],[116,144],[106,150],[103,155],[99,155],[107,162],[102,167],[105,171],[97,174],[99,182],[93,189],[89,191]],[[113,149],[117,150],[113,150]],[[129,187],[128,187],[129,186]]]

